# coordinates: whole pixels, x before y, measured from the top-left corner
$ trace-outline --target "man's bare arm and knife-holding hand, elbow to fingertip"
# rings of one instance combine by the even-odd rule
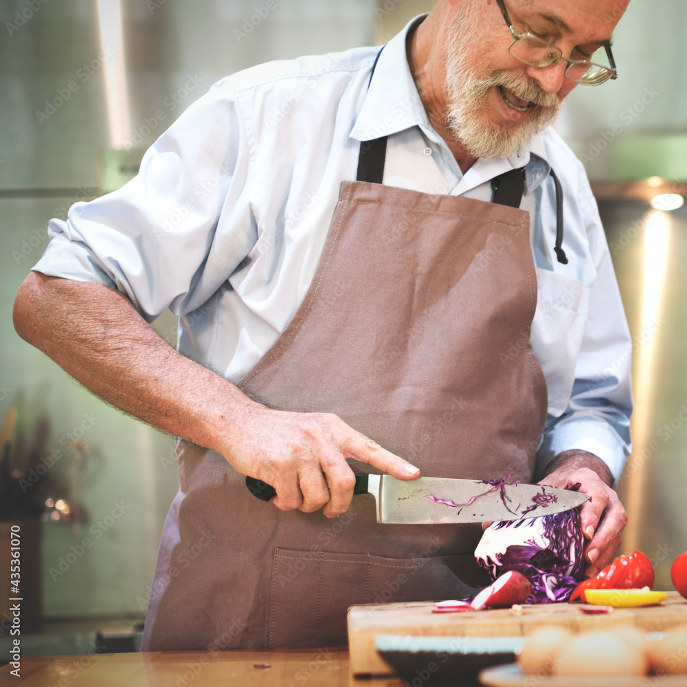
[[[31,273],[14,326],[104,401],[217,451],[243,475],[275,487],[273,503],[340,515],[355,484],[354,458],[401,480],[418,469],[333,414],[274,410],[168,345],[131,302],[102,284]]]

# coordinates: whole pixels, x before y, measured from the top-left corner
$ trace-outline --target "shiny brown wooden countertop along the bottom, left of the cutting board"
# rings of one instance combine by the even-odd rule
[[[267,667],[269,666],[269,667]],[[356,679],[348,651],[163,651],[24,656],[19,678],[0,668],[1,685],[21,687],[403,687],[397,677]]]

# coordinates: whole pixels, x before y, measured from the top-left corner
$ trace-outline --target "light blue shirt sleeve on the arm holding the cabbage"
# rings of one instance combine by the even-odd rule
[[[596,278],[570,401],[563,414],[548,417],[537,453],[537,474],[559,453],[580,449],[603,460],[615,484],[631,451],[633,344],[596,201],[584,185],[584,217]]]

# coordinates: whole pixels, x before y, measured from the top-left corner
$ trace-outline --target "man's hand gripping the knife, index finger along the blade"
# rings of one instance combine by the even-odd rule
[[[237,431],[238,430],[238,431]],[[347,458],[399,480],[420,471],[355,431],[333,414],[291,413],[255,404],[245,422],[232,428],[232,446],[223,455],[239,473],[271,484],[281,510],[341,515],[350,506],[355,477]]]

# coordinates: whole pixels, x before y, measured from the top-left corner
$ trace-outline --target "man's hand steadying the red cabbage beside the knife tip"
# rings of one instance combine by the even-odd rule
[[[588,539],[585,558],[587,576],[594,577],[611,562],[620,547],[620,532],[627,524],[627,513],[618,495],[609,486],[611,473],[605,462],[586,451],[565,451],[548,464],[539,484],[570,488],[592,497],[580,510],[582,531]]]

